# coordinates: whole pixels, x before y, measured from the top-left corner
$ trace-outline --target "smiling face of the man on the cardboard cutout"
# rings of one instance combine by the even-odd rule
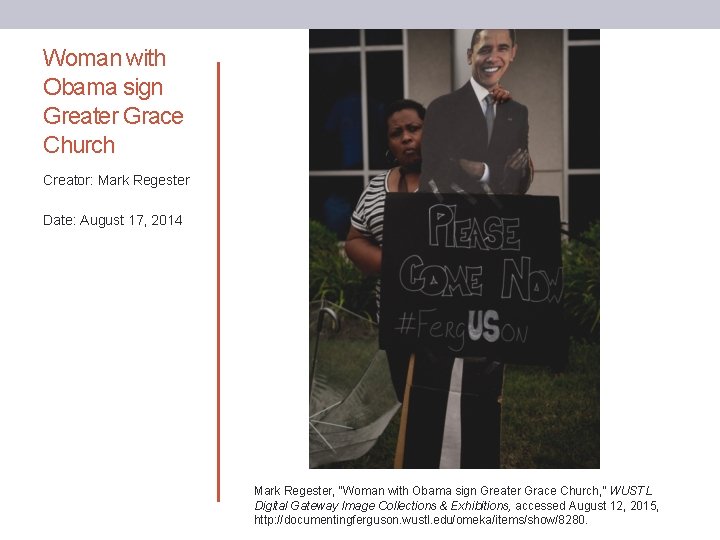
[[[468,65],[475,81],[487,90],[495,88],[515,59],[517,45],[509,30],[483,30],[472,49],[467,50]]]

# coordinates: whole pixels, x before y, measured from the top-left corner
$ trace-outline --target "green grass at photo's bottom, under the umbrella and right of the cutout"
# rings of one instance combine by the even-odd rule
[[[362,458],[331,468],[392,468],[399,413]],[[567,369],[509,365],[505,372],[501,467],[600,467],[600,346],[571,343]]]

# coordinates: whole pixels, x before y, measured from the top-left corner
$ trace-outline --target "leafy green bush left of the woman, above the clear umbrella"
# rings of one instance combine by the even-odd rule
[[[375,313],[375,279],[345,256],[335,233],[310,221],[310,300],[325,298],[357,313]]]

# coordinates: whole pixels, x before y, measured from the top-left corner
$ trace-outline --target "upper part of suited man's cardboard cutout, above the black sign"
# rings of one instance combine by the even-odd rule
[[[433,101],[423,132],[420,191],[522,195],[532,182],[528,111],[491,92],[510,68],[515,30],[475,30],[467,50],[470,78]]]

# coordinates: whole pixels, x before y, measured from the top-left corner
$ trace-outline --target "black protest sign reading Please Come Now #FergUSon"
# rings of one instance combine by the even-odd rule
[[[381,284],[383,349],[564,363],[557,197],[388,194]]]

